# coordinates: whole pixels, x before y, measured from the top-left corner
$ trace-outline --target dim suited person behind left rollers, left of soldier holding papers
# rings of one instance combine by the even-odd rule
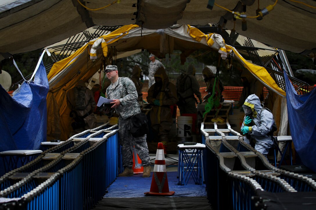
[[[70,117],[74,119],[70,136],[95,128],[97,120],[93,114],[96,107],[94,95],[84,81],[79,80],[75,87],[67,92],[66,97],[67,106],[71,109]]]

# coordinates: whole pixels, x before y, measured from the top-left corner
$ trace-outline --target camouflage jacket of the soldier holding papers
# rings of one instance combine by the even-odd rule
[[[121,105],[115,108],[115,111],[123,119],[127,119],[141,112],[137,97],[138,94],[135,84],[127,77],[119,77],[114,87],[111,84],[106,89],[107,99],[119,99],[121,102]]]

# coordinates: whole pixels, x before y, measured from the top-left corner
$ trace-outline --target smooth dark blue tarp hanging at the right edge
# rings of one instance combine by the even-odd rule
[[[316,90],[297,95],[287,74],[286,101],[294,147],[303,164],[316,172]]]

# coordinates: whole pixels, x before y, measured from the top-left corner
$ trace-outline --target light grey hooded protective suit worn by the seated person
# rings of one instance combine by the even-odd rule
[[[255,149],[263,155],[267,155],[269,152],[269,148],[273,146],[273,141],[271,140],[270,131],[272,130],[272,126],[274,125],[273,115],[266,109],[262,109],[260,100],[258,96],[252,94],[247,97],[244,104],[251,108],[252,114],[251,119],[252,122],[249,123],[249,135],[244,137],[244,141],[250,144],[250,138],[255,139]],[[243,129],[245,125],[245,119],[241,125],[241,129]],[[248,136],[248,137],[247,137]],[[249,138],[250,137],[250,138]]]

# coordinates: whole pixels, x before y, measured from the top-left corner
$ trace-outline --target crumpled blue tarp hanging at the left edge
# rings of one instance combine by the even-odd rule
[[[0,85],[0,152],[16,149],[39,149],[46,141],[48,79],[43,62],[34,81],[23,82],[13,96]],[[0,161],[3,174],[3,161]]]

